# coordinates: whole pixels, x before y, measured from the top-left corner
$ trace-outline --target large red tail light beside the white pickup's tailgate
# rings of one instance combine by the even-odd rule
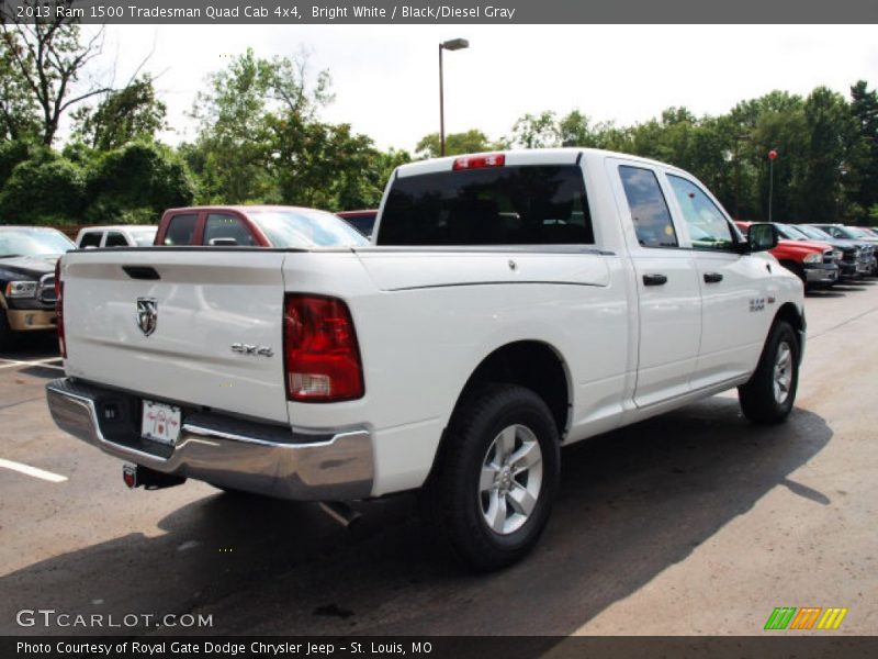
[[[345,302],[289,294],[283,324],[288,399],[330,403],[362,398],[360,350]]]

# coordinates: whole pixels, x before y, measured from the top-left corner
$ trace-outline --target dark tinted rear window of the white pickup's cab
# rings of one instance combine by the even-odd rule
[[[575,165],[488,167],[396,179],[379,245],[594,244]]]

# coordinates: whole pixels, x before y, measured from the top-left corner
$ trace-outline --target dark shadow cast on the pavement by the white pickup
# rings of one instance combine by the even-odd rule
[[[311,503],[209,495],[165,517],[162,535],[132,533],[0,579],[0,633],[46,633],[16,627],[14,612],[50,607],[213,616],[211,629],[179,630],[193,634],[567,635],[772,489],[830,503],[789,476],[832,435],[808,411],[753,426],[736,400],[713,398],[577,444],[562,454],[560,496],[534,554],[487,576],[449,562],[414,517],[413,495],[358,504],[363,518],[350,530]],[[131,506],[157,495],[127,493]]]

